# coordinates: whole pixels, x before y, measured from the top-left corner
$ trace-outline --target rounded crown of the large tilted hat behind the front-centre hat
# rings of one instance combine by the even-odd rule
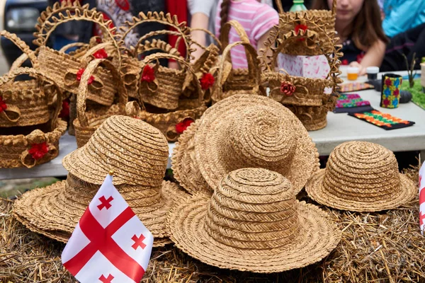
[[[270,170],[287,167],[296,139],[284,114],[268,105],[253,105],[233,115],[220,146],[227,171],[248,166]]]

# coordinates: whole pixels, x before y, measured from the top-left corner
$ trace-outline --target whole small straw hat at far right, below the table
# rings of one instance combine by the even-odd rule
[[[336,146],[327,168],[314,173],[305,189],[320,204],[356,212],[393,209],[417,192],[412,180],[399,173],[392,151],[365,141]]]

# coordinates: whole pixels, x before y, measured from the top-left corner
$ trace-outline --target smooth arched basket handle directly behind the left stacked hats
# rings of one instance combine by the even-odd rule
[[[118,73],[118,70],[108,59],[94,59],[87,65],[81,76],[79,84],[78,95],[77,95],[77,119],[80,122],[81,127],[89,127],[89,121],[86,117],[86,96],[89,91],[89,79],[93,76],[96,68],[102,64],[102,67],[106,67],[113,76],[113,80],[118,84],[118,105],[120,111],[125,110],[125,103],[127,103],[127,90],[125,89],[124,82]]]

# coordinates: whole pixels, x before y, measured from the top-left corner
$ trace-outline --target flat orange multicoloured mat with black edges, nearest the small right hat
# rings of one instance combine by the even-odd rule
[[[356,117],[365,122],[369,122],[383,129],[400,129],[414,125],[414,122],[402,120],[387,113],[378,110],[363,113],[348,113],[348,115]]]

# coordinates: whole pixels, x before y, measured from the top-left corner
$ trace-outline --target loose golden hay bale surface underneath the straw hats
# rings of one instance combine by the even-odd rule
[[[418,168],[407,171],[417,183]],[[61,265],[64,245],[25,229],[0,202],[0,282],[75,282]],[[271,275],[220,270],[169,245],[152,251],[142,282],[425,282],[419,202],[379,213],[328,209],[343,231],[339,246],[315,265]]]

